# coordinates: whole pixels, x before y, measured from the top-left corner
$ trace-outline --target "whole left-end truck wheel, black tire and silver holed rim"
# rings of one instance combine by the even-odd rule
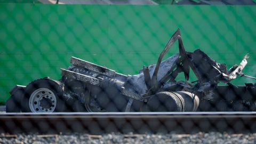
[[[27,85],[21,103],[22,112],[52,113],[65,111],[62,89],[58,81],[37,79]]]

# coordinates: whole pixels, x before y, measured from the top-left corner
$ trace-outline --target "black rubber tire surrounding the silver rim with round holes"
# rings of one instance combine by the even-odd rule
[[[37,79],[37,80],[35,80],[35,81],[33,81],[33,82],[31,82],[30,84],[27,85],[27,87],[25,89],[25,95],[24,95],[24,98],[23,98],[22,103],[21,103],[21,111],[22,112],[35,112],[35,113],[37,113],[38,108],[36,109],[36,111],[32,111],[30,109],[30,107],[29,107],[29,99],[31,97],[31,94],[33,94],[33,92],[38,91],[40,89],[50,90],[54,94],[53,97],[55,96],[54,97],[56,99],[56,101],[54,103],[55,106],[51,105],[52,102],[51,102],[51,100],[49,98],[45,98],[47,100],[48,99],[50,100],[50,102],[49,101],[46,102],[46,104],[50,103],[49,104],[50,105],[50,109],[52,108],[52,106],[54,107],[54,110],[51,109],[52,111],[50,111],[50,109],[49,109],[50,112],[63,112],[63,111],[66,110],[65,101],[62,99],[63,91],[62,91],[62,89],[61,89],[61,87],[59,85],[59,82],[58,81],[54,81],[54,80],[49,79],[49,78],[41,78],[41,79]],[[38,95],[38,97],[39,97],[39,95]],[[35,104],[35,106],[39,105],[39,102],[38,103],[34,103],[34,104]],[[31,103],[30,103],[30,105],[31,105]],[[45,109],[47,109],[47,108],[45,108]],[[39,109],[38,111],[43,113],[43,112],[47,112],[48,109],[47,109],[47,111],[43,111],[41,109]]]

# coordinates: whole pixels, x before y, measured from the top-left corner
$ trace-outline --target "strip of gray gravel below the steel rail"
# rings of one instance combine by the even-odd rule
[[[256,133],[228,134],[219,132],[196,134],[5,134],[0,143],[256,143]]]

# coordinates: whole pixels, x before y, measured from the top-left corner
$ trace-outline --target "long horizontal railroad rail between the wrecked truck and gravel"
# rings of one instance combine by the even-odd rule
[[[1,133],[255,133],[255,112],[10,113],[0,114]]]

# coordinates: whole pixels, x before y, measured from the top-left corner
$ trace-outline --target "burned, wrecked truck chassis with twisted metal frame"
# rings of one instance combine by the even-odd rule
[[[179,53],[162,61],[175,41]],[[44,77],[14,86],[6,112],[254,111],[256,85],[230,83],[238,76],[250,77],[242,72],[247,58],[246,54],[228,70],[199,49],[185,51],[178,29],[156,65],[144,66],[137,75],[71,57],[71,66],[61,69],[58,81]],[[197,81],[189,81],[190,69]],[[175,80],[179,73],[185,76],[183,81]]]

